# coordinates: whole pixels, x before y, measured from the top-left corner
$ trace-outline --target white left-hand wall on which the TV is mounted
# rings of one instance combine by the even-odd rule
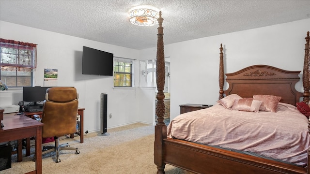
[[[74,86],[78,90],[79,107],[86,108],[84,111],[85,131],[100,129],[100,93],[102,92],[108,93],[108,115],[112,114],[112,118],[108,118],[108,128],[139,121],[135,88],[113,89],[113,77],[83,75],[81,70],[83,45],[114,53],[114,56],[122,58],[138,59],[138,50],[4,21],[0,21],[0,37],[38,44],[34,85],[44,86],[44,69],[57,69],[58,86]],[[135,83],[138,84],[138,81]],[[8,103],[18,104],[22,101],[21,89],[9,88],[8,91],[1,91],[0,99],[0,106],[8,105]]]

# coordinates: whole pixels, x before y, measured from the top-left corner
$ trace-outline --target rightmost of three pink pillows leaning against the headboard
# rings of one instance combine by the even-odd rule
[[[253,100],[262,101],[260,111],[277,112],[278,103],[281,97],[273,95],[254,95]]]

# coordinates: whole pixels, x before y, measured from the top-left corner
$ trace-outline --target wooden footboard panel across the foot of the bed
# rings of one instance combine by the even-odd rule
[[[163,151],[164,163],[197,174],[307,174],[306,168],[182,140],[164,139]]]

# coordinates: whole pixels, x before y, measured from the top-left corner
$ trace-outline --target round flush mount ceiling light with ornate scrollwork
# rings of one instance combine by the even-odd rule
[[[158,24],[158,11],[149,8],[137,8],[130,11],[129,21],[138,26],[154,26]]]

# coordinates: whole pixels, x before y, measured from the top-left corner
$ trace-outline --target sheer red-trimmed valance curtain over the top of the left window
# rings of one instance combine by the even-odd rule
[[[36,68],[37,44],[0,38],[0,68],[4,71],[31,71]]]

